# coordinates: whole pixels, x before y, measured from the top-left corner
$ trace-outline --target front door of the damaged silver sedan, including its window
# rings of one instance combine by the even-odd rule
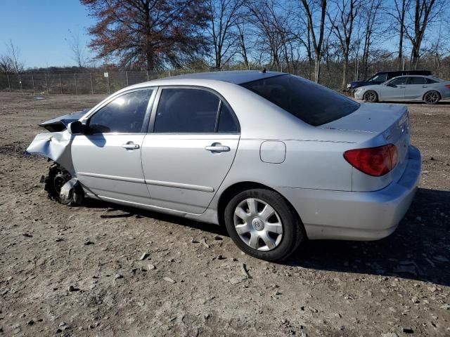
[[[154,95],[152,88],[118,95],[88,117],[84,135],[75,136],[72,160],[87,193],[148,204],[141,148]]]

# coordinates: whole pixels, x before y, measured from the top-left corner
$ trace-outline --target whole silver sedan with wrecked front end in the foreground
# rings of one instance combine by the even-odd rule
[[[55,162],[52,199],[224,224],[265,260],[307,238],[386,237],[420,177],[406,107],[356,103],[279,72],[157,79],[42,126],[53,132],[27,152]]]

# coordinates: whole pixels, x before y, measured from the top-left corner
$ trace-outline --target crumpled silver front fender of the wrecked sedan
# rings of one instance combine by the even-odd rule
[[[26,152],[28,154],[50,158],[68,170],[72,176],[75,176],[72,153],[70,151],[72,140],[73,136],[67,130],[39,133],[27,147]]]

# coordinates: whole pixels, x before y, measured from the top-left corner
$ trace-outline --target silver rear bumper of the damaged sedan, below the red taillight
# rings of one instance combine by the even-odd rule
[[[300,214],[309,239],[377,240],[392,234],[408,211],[420,180],[421,158],[409,147],[401,178],[375,192],[280,187]]]

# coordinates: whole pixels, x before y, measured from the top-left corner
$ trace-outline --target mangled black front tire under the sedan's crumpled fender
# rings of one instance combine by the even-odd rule
[[[49,174],[44,179],[44,190],[46,190],[49,199],[58,201],[60,204],[67,206],[82,205],[84,201],[84,191],[79,183],[75,186],[68,199],[63,200],[60,198],[59,192],[61,187],[63,187],[70,179],[72,179],[72,176],[63,168],[63,166],[60,166],[59,164],[50,166]]]

